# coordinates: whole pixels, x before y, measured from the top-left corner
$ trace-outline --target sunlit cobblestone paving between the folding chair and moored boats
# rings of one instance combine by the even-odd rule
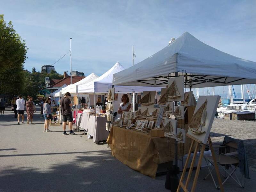
[[[225,136],[244,141],[249,166],[256,171],[256,121],[236,121],[214,119],[211,139],[214,144],[221,144]]]

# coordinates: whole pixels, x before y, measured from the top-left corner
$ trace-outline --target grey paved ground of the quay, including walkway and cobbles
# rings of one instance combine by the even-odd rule
[[[0,192],[168,191],[165,176],[154,180],[130,169],[111,156],[107,145],[96,145],[82,134],[63,136],[60,126],[43,132],[39,112],[34,123],[17,125],[10,108],[0,116]],[[231,135],[245,139],[249,153],[252,179],[245,180],[244,189],[228,180],[225,191],[255,191],[255,123],[214,121],[214,144]],[[196,191],[216,192],[210,179],[203,180],[206,174],[207,168],[202,168]]]

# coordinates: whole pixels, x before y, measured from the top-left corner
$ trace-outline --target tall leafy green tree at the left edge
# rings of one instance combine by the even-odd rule
[[[24,91],[23,65],[27,59],[25,42],[12,22],[0,15],[0,93],[17,95]]]

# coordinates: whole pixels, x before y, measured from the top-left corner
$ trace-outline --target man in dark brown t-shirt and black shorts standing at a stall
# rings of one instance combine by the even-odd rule
[[[63,135],[67,135],[66,133],[66,125],[67,121],[69,126],[69,135],[76,135],[76,133],[73,132],[72,126],[73,126],[73,116],[71,111],[71,100],[69,99],[71,97],[71,94],[69,92],[65,93],[65,96],[61,98],[60,100],[60,108],[61,108],[61,115],[63,116]]]

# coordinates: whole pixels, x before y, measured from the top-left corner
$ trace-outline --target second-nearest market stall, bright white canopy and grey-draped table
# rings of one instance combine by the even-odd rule
[[[97,79],[87,83],[87,84],[81,84],[78,85],[78,93],[84,93],[84,94],[94,94],[94,106],[95,106],[95,95],[100,94],[107,94],[109,87],[112,86],[112,79],[113,74],[117,73],[119,71],[124,70],[123,66],[116,62],[116,64],[110,68],[106,73],[104,73],[102,76],[98,77]],[[161,91],[160,87],[143,87],[143,86],[115,86],[115,92],[117,93],[132,93],[132,92],[143,92],[143,91]],[[115,101],[114,109],[117,111],[119,108],[119,101]],[[86,117],[83,117],[86,116]],[[80,117],[80,119],[79,119]],[[93,115],[79,115],[77,118],[77,125],[81,128],[84,128],[87,131],[87,134],[93,136],[93,141],[97,143],[99,141],[99,138],[101,140],[107,140],[108,138],[108,132],[105,129],[106,125],[106,117],[95,117],[95,124],[92,125],[91,118],[94,118]],[[82,119],[81,119],[82,118]],[[87,123],[84,123],[86,121]],[[103,123],[102,123],[103,122]],[[104,125],[104,126],[102,126]],[[103,138],[103,139],[102,139]]]

